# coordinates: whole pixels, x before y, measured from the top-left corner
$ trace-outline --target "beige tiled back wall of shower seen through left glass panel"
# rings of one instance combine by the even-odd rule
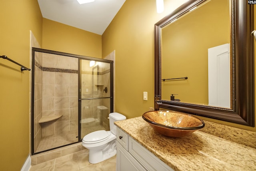
[[[76,131],[78,135],[78,59],[43,54],[42,116],[62,115],[42,123],[42,137]]]

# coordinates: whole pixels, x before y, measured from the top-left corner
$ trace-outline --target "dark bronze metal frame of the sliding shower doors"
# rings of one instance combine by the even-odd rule
[[[40,152],[36,152],[34,151],[34,84],[35,84],[35,80],[34,80],[34,65],[35,65],[35,52],[42,52],[42,53],[47,53],[47,54],[55,54],[55,55],[61,55],[61,56],[68,56],[68,57],[74,57],[74,58],[78,58],[78,141],[74,142],[74,143],[69,143],[66,145],[62,145],[59,147],[54,147],[51,149],[47,149],[44,151],[40,151]],[[104,59],[100,59],[100,58],[93,58],[93,57],[88,57],[88,56],[82,56],[82,55],[76,55],[76,54],[69,54],[69,53],[65,53],[65,52],[58,52],[58,51],[53,51],[53,50],[46,50],[46,49],[41,49],[41,48],[32,48],[32,78],[31,78],[31,155],[36,155],[39,153],[43,153],[46,151],[50,151],[53,149],[58,149],[60,147],[65,147],[68,145],[72,145],[75,143],[79,143],[82,141],[81,139],[81,125],[80,125],[80,120],[81,120],[81,100],[80,99],[80,89],[81,89],[81,84],[80,84],[80,59],[82,60],[94,60],[96,62],[105,62],[105,63],[109,63],[110,64],[110,97],[99,97],[99,98],[90,98],[90,99],[103,99],[103,98],[110,98],[110,112],[113,112],[113,106],[114,106],[114,89],[113,89],[113,80],[114,80],[114,70],[113,70],[113,61],[111,60],[104,60]]]

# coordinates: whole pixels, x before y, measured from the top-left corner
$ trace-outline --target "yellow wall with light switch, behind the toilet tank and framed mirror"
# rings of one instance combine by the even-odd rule
[[[126,0],[102,35],[102,56],[116,50],[115,109],[127,118],[141,116],[154,107],[154,24],[182,1],[164,0],[162,14],[156,13],[155,3]],[[148,91],[148,101],[143,100],[143,91]],[[256,131],[255,127],[203,119]]]

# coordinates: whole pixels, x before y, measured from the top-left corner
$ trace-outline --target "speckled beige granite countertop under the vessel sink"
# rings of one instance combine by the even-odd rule
[[[181,138],[164,137],[155,133],[142,117],[117,121],[115,125],[175,171],[256,170],[255,148],[207,131],[196,131]],[[252,134],[254,138],[255,133]],[[255,145],[255,139],[253,144]]]

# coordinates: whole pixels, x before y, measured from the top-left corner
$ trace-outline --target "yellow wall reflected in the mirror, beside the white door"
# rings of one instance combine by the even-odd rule
[[[230,43],[229,6],[209,1],[162,29],[162,78],[188,77],[162,82],[162,99],[208,104],[208,48]]]

